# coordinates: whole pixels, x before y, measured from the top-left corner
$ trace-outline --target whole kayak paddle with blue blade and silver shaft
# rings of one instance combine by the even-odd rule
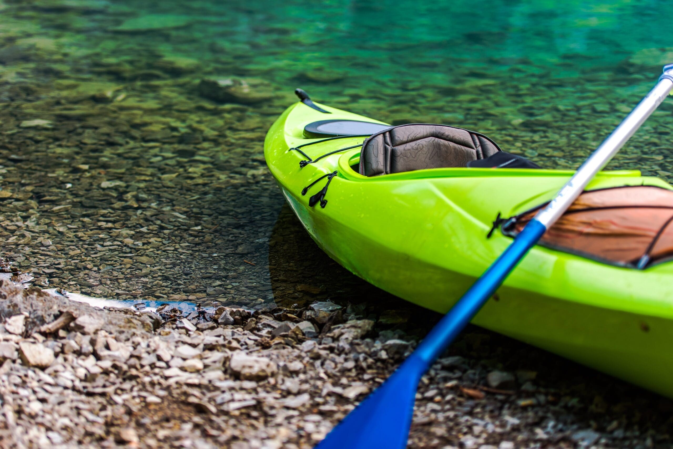
[[[528,222],[453,308],[421,341],[415,351],[374,392],[369,394],[316,449],[402,449],[409,438],[416,390],[421,376],[491,298],[565,210],[579,197],[594,175],[623,147],[673,88],[673,64],[664,66],[659,82],[619,124],[561,188],[556,197]]]

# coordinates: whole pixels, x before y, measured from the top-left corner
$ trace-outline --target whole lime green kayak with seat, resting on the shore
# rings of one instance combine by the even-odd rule
[[[508,168],[526,161],[502,162],[479,133],[390,127],[298,95],[264,141],[285,199],[343,267],[437,312],[573,173]],[[472,164],[496,156],[500,168]],[[598,174],[474,324],[673,397],[672,190],[637,170]]]

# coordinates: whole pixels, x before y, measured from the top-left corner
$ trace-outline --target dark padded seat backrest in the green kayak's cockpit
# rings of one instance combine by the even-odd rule
[[[447,125],[413,124],[387,128],[362,144],[359,172],[365,176],[425,168],[466,167],[501,151],[481,133]]]

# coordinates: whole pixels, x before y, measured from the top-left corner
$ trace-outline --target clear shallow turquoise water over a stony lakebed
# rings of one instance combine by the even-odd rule
[[[252,308],[392,301],[310,242],[264,166],[293,88],[575,168],[673,61],[663,0],[141,3],[0,0],[0,245],[36,285]],[[231,77],[254,95],[199,88]],[[670,180],[672,112],[610,167]]]

